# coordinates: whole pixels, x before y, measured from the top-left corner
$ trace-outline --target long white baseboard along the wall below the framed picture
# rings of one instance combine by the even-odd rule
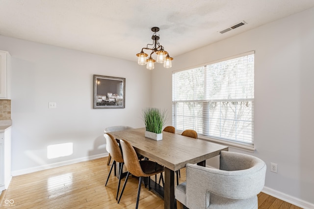
[[[14,170],[14,171],[12,171],[12,176],[19,176],[19,175],[23,175],[23,174],[27,174],[27,173],[40,171],[40,170],[45,170],[45,169],[49,169],[49,168],[54,168],[54,167],[59,167],[62,165],[69,165],[69,164],[79,163],[79,162],[84,162],[84,161],[90,161],[90,160],[103,158],[103,157],[107,157],[107,156],[108,156],[108,153],[104,153],[104,154],[93,155],[93,156],[88,156],[88,157],[84,157],[84,158],[73,159],[70,161],[63,161],[63,162],[59,162],[59,163],[41,165],[41,166],[31,167],[31,168],[27,168],[27,169]]]

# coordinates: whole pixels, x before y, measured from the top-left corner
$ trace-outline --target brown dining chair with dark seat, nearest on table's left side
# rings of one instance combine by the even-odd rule
[[[148,160],[139,161],[134,148],[126,140],[120,139],[120,145],[122,147],[123,159],[124,159],[126,168],[128,169],[128,174],[123,184],[118,203],[121,200],[124,188],[126,187],[126,184],[128,182],[128,179],[131,173],[133,176],[139,177],[136,207],[135,207],[135,209],[137,209],[143,177],[149,177],[148,185],[150,188],[150,177],[158,173],[162,175],[162,172],[164,171],[164,167],[153,161],[148,161]],[[163,183],[163,178],[162,178],[162,183]]]

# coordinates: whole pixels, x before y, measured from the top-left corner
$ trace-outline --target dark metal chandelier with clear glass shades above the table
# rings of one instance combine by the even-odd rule
[[[140,53],[136,54],[136,56],[138,56],[137,63],[139,65],[146,65],[146,68],[148,70],[153,70],[155,68],[154,62],[156,61],[157,63],[163,63],[164,68],[171,68],[172,67],[171,60],[173,60],[173,58],[169,56],[168,52],[165,51],[163,46],[161,46],[158,42],[159,35],[157,36],[156,32],[159,31],[159,27],[152,27],[152,31],[154,32],[152,36],[153,44],[147,44],[145,48],[142,48],[142,51]],[[149,48],[149,45],[152,48]],[[152,50],[152,53],[150,54],[148,59],[146,59],[148,57],[148,54],[144,52],[144,49]],[[156,60],[152,58],[152,54],[154,52],[157,54]]]

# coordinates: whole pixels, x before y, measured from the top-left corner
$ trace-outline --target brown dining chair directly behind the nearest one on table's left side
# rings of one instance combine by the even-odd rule
[[[112,168],[116,166],[116,163],[120,163],[119,183],[118,183],[117,195],[116,195],[116,200],[117,200],[118,194],[119,194],[120,183],[121,183],[121,177],[122,177],[122,169],[123,169],[123,164],[124,164],[123,155],[116,139],[111,134],[108,134],[108,133],[105,133],[104,136],[106,138],[106,142],[107,142],[106,146],[107,146],[108,152],[110,153],[111,158],[113,160],[105,186],[107,186]]]

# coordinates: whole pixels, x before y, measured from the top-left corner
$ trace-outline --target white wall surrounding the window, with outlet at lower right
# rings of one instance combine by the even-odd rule
[[[314,208],[314,8],[174,57],[171,71],[251,50],[256,151],[247,154],[267,164],[268,192]],[[171,113],[171,71],[162,70],[153,71],[152,103]]]

